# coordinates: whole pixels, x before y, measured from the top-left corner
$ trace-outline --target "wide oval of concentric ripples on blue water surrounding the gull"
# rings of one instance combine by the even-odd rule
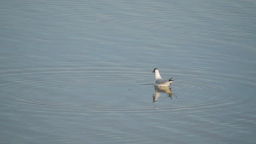
[[[104,71],[104,72],[102,72]],[[9,94],[8,99],[16,101],[17,103],[25,105],[41,105],[46,107],[61,107],[61,109],[82,110],[90,112],[150,112],[154,109],[158,111],[177,111],[187,109],[206,109],[217,106],[226,106],[229,103],[229,99],[218,98],[219,92],[224,92],[225,88],[219,83],[216,76],[205,75],[203,73],[181,73],[180,71],[172,71],[173,74],[178,73],[176,77],[187,77],[181,80],[175,80],[172,85],[172,94],[178,99],[182,100],[167,100],[165,97],[160,97],[157,101],[158,105],[155,107],[152,103],[140,104],[140,102],[150,101],[151,95],[154,93],[154,87],[152,85],[154,81],[153,74],[145,74],[144,71],[134,72],[139,70],[120,69],[120,68],[82,68],[80,70],[67,69],[67,68],[52,68],[52,69],[28,69],[28,70],[5,70],[1,71],[3,77],[9,77],[9,81],[5,81],[1,85],[1,89],[5,89],[5,92]],[[165,71],[165,70],[164,70]],[[167,75],[163,73],[163,75]],[[203,75],[203,79],[200,79],[199,75]],[[189,78],[188,78],[189,77]],[[219,77],[222,77],[221,75]],[[234,77],[231,77],[233,79]],[[219,78],[221,79],[221,78]],[[208,81],[215,85],[210,85]],[[238,80],[237,80],[238,81]],[[117,93],[109,92],[105,89],[106,95],[120,94],[123,92],[124,97],[129,95],[130,87],[141,89],[136,93],[145,93],[148,96],[138,99],[134,105],[122,105],[118,104],[122,98],[115,97],[117,100],[112,100],[108,103],[104,101],[101,92],[86,92],[90,88],[95,88],[101,83],[107,85],[109,91],[116,91],[116,89],[123,88],[127,91],[125,94],[123,91],[117,91]],[[12,88],[16,87],[16,88]],[[106,86],[101,86],[106,87]],[[115,87],[115,89],[111,89]],[[103,89],[102,88],[102,89]],[[65,89],[71,89],[72,94],[65,94]],[[129,91],[128,91],[129,89]],[[61,92],[60,92],[61,91]],[[64,92],[62,92],[64,91]],[[69,91],[69,92],[70,92]],[[85,96],[78,96],[80,93],[75,94],[77,91],[80,93],[86,93]],[[152,91],[152,92],[148,92]],[[15,95],[13,93],[19,93]],[[114,93],[114,94],[113,94]],[[46,95],[65,95],[63,97],[46,97]],[[97,100],[91,97],[99,97],[101,100]],[[161,95],[165,95],[162,94]],[[134,97],[135,95],[129,96]],[[82,98],[83,97],[83,98]],[[90,100],[85,101],[86,97]],[[121,97],[121,96],[120,96]],[[76,100],[75,100],[76,99]],[[165,99],[165,101],[161,101]],[[188,100],[189,99],[189,100]],[[218,99],[218,100],[217,100]],[[84,101],[84,103],[79,103]],[[104,102],[102,102],[104,101]],[[87,103],[86,103],[87,102]],[[133,101],[134,102],[134,101]],[[124,101],[122,102],[124,103]]]

